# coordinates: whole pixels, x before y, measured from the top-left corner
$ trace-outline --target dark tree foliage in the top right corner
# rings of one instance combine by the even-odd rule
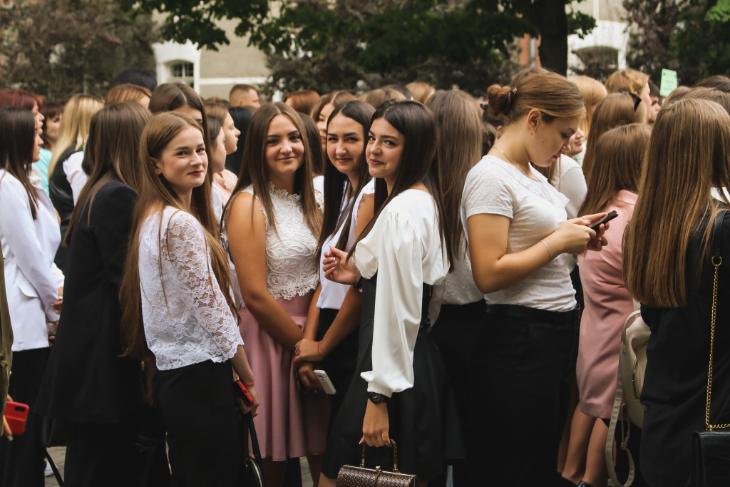
[[[626,61],[656,83],[674,69],[680,84],[730,73],[730,0],[625,0]]]

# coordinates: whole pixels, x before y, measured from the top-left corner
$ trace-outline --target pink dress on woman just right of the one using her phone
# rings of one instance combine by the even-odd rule
[[[600,252],[578,256],[585,310],[580,319],[576,375],[580,410],[593,418],[611,417],[621,330],[626,317],[634,311],[634,302],[623,283],[621,242],[636,202],[636,194],[619,191],[603,210],[618,212],[606,231],[608,245]]]

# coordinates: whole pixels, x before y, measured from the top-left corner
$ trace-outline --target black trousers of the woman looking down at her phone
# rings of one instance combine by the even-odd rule
[[[495,486],[550,486],[568,413],[580,313],[538,312],[548,319],[536,319],[519,316],[530,308],[491,310],[476,372],[487,377],[477,426],[486,446],[483,471]]]

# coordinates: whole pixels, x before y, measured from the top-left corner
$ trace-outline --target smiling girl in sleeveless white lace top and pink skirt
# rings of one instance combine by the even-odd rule
[[[281,485],[288,458],[306,455],[316,473],[327,432],[327,398],[301,394],[293,369],[294,346],[319,282],[315,255],[323,200],[312,187],[309,144],[291,107],[261,106],[251,118],[245,164],[223,211],[244,303],[241,336],[250,345],[264,404],[255,424],[269,487]]]

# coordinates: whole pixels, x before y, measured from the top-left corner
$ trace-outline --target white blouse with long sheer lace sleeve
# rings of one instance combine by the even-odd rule
[[[190,213],[165,207],[142,223],[139,287],[147,346],[158,369],[226,361],[243,345],[210,267],[203,227]]]

